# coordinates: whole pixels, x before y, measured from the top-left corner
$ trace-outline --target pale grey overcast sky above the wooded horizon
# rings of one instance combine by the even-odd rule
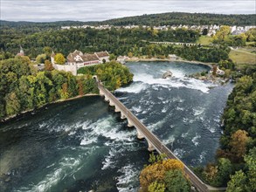
[[[1,19],[9,21],[102,21],[163,12],[255,14],[255,0],[0,0]]]

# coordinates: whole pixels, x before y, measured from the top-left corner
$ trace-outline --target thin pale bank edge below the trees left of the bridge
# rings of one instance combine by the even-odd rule
[[[80,98],[83,98],[83,97],[92,97],[92,96],[98,96],[98,95],[99,95],[99,94],[97,94],[97,93],[87,93],[87,94],[78,95],[78,96],[76,96],[76,97],[69,98],[69,99],[59,99],[59,100],[55,100],[55,101],[53,101],[53,102],[51,102],[51,103],[45,103],[45,105],[39,106],[38,108],[33,108],[33,109],[30,109],[30,110],[25,110],[25,111],[23,111],[23,112],[21,112],[21,113],[17,113],[17,114],[11,115],[11,116],[9,116],[9,117],[3,118],[3,120],[0,120],[0,122],[4,123],[4,122],[6,122],[7,120],[15,119],[15,118],[17,118],[17,117],[19,117],[19,116],[21,116],[21,115],[24,115],[24,114],[26,114],[26,113],[31,113],[31,112],[33,112],[33,111],[35,111],[35,110],[41,109],[41,108],[43,108],[43,107],[45,107],[45,106],[48,106],[48,105],[51,105],[51,104],[54,104],[54,103],[61,103],[61,102],[68,101],[68,100],[74,100],[74,99],[80,99]]]

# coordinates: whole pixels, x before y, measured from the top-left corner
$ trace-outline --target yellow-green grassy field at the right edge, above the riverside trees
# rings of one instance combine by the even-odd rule
[[[256,65],[256,54],[232,50],[229,53],[229,58],[231,58],[235,64]]]

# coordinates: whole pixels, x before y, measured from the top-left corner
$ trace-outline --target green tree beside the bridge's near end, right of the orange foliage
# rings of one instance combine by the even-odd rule
[[[166,191],[168,192],[189,192],[190,184],[183,175],[182,170],[174,169],[167,171],[163,181],[166,183]]]

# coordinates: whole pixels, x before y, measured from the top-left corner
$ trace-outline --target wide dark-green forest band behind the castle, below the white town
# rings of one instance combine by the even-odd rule
[[[19,36],[14,32],[3,31],[0,35],[0,59],[13,57],[22,45],[24,52],[30,58],[39,54],[49,55],[52,51],[61,52],[65,56],[71,51],[83,52],[108,51],[115,56],[131,55],[135,57],[148,56],[149,58],[167,58],[169,54],[176,54],[188,60],[202,62],[218,62],[228,58],[229,49],[225,46],[201,47],[195,45],[153,45],[149,41],[195,42],[198,31],[177,29],[170,31],[156,31],[153,29],[121,29],[94,30],[71,29],[63,31],[37,32],[31,35]]]

